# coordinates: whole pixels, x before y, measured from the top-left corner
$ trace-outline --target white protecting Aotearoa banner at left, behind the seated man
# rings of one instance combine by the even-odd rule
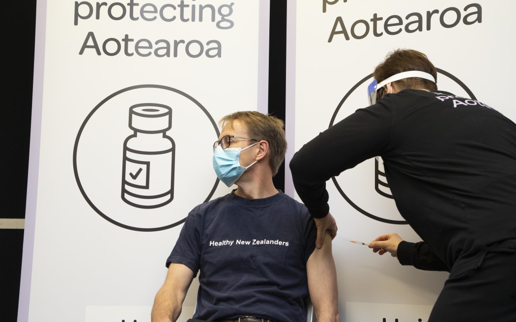
[[[188,212],[230,191],[218,120],[267,111],[268,27],[268,1],[38,1],[19,321],[150,321]]]

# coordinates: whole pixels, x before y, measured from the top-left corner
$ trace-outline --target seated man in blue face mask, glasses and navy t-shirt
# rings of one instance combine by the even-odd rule
[[[277,190],[286,151],[283,122],[259,112],[220,121],[217,177],[237,189],[193,209],[167,260],[152,322],[175,322],[199,274],[195,319],[303,322],[310,296],[319,322],[339,320],[331,237],[315,248],[308,210]]]

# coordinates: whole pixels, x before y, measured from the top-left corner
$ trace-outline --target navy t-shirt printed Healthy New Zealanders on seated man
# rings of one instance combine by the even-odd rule
[[[197,313],[306,320],[306,263],[316,228],[308,210],[281,191],[263,199],[228,194],[193,209],[168,260],[199,274]]]

